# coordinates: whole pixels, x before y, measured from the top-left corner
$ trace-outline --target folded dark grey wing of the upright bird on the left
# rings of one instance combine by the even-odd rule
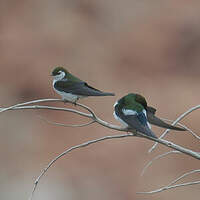
[[[81,96],[114,96],[113,93],[102,92],[89,86],[85,82],[57,81],[54,84],[54,88],[62,92]]]

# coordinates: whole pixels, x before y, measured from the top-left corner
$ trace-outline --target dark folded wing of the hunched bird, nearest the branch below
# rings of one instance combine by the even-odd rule
[[[128,124],[129,127],[145,134],[150,137],[157,138],[156,135],[151,131],[151,129],[147,125],[147,119],[144,113],[140,113],[139,115],[124,115],[117,106],[115,106],[115,114],[121,118],[124,122]]]

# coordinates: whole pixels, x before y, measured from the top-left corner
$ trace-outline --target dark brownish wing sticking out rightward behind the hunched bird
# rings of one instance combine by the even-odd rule
[[[167,124],[166,122],[162,121],[161,119],[159,119],[158,117],[155,116],[155,111],[156,111],[155,108],[147,107],[147,119],[150,124],[153,124],[153,125],[156,125],[159,127],[163,127],[163,128],[167,128],[167,129],[177,130],[177,131],[186,131],[186,129],[184,129],[184,128],[172,126],[172,125]]]

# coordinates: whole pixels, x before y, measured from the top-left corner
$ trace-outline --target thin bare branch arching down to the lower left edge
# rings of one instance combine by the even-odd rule
[[[84,142],[82,144],[79,144],[79,145],[76,145],[76,146],[73,146],[67,150],[65,150],[63,153],[59,154],[56,158],[54,158],[48,165],[46,168],[44,168],[41,172],[41,174],[37,177],[37,179],[35,180],[34,182],[34,186],[33,186],[33,190],[31,192],[31,195],[29,197],[29,200],[32,200],[33,199],[33,195],[35,193],[35,190],[37,188],[37,185],[40,181],[40,179],[44,176],[44,174],[47,172],[47,170],[60,158],[62,158],[63,156],[65,156],[66,154],[70,153],[71,151],[75,150],[75,149],[79,149],[79,148],[83,148],[83,147],[86,147],[86,146],[89,146],[91,144],[94,144],[94,143],[97,143],[97,142],[102,142],[104,140],[110,140],[110,139],[118,139],[118,138],[126,138],[126,137],[132,137],[134,136],[134,134],[130,133],[130,134],[122,134],[122,135],[109,135],[109,136],[104,136],[104,137],[101,137],[99,139],[95,139],[95,140],[90,140],[90,141],[87,141],[87,142]]]

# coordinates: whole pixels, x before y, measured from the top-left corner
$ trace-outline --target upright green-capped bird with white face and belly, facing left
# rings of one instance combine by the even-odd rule
[[[114,93],[102,92],[91,86],[79,78],[70,74],[63,67],[56,67],[52,71],[53,88],[62,96],[64,101],[76,103],[80,98],[89,96],[114,96]]]

